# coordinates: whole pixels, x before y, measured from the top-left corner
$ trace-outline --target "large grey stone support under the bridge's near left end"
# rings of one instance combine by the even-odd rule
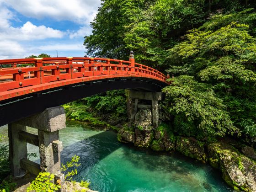
[[[26,171],[36,174],[48,171],[64,178],[60,173],[60,152],[62,142],[59,141],[59,130],[66,127],[63,107],[51,107],[8,124],[11,173],[22,176]],[[37,128],[38,135],[27,133],[26,126]],[[39,146],[40,165],[27,160],[27,143]]]

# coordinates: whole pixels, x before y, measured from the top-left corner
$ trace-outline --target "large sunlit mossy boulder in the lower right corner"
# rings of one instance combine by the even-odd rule
[[[208,145],[209,163],[222,171],[223,179],[235,190],[256,191],[256,163],[229,144]]]

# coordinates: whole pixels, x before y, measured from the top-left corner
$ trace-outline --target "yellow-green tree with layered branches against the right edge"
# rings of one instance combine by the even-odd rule
[[[256,122],[256,38],[249,26],[232,22],[216,31],[195,29],[169,51],[169,72],[210,85],[233,124],[249,135],[245,122]]]

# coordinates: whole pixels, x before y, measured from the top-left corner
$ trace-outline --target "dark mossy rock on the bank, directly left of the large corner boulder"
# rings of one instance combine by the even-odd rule
[[[190,137],[177,137],[176,150],[197,160],[207,161],[204,143]]]

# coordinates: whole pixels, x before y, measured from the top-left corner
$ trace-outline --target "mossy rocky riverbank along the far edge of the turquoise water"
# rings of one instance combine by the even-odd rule
[[[70,113],[70,109],[72,112]],[[111,122],[102,121],[98,113],[91,113],[91,117],[84,118],[76,113],[74,107],[65,107],[67,116],[76,120],[86,121],[112,129],[117,132],[120,142],[130,143],[139,148],[150,148],[154,151],[179,152],[202,163],[208,163],[222,173],[224,181],[235,190],[256,191],[256,153],[255,150],[230,139],[228,137],[213,141],[202,141],[193,137],[177,135],[171,131],[170,125],[162,123],[157,129],[149,125],[132,128],[127,122],[111,125]],[[81,110],[81,107],[79,107]],[[85,114],[85,113],[84,113]],[[86,115],[85,115],[86,116]],[[161,118],[167,119],[165,114]],[[114,124],[114,123],[113,123]]]

